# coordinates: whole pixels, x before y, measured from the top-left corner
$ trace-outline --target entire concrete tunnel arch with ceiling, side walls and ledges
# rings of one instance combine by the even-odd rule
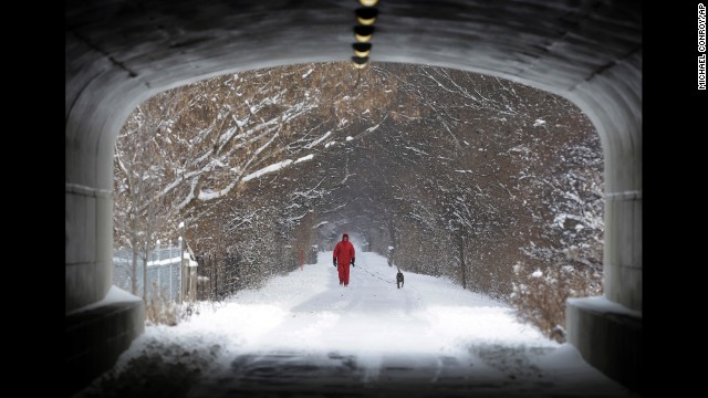
[[[229,72],[348,60],[354,1],[226,0],[65,7],[65,338],[75,389],[144,329],[139,300],[112,284],[113,148],[152,95]],[[569,341],[638,388],[642,334],[642,6],[639,1],[382,1],[373,61],[452,67],[563,96],[601,136],[605,297],[568,303]],[[85,336],[94,338],[82,338]]]

